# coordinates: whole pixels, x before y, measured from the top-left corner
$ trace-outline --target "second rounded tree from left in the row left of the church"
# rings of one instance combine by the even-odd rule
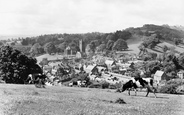
[[[48,54],[55,53],[56,52],[56,47],[52,42],[46,43],[44,46],[45,52]]]

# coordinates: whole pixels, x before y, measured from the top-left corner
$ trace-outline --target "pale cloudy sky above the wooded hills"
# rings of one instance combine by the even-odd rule
[[[115,32],[183,25],[184,0],[0,0],[0,35]]]

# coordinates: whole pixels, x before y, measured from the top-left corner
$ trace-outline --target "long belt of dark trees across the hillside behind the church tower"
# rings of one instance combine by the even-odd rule
[[[144,39],[141,44],[144,48],[153,49],[160,41],[171,41],[175,45],[182,43],[184,32],[171,29],[169,26],[145,24],[143,27],[130,27],[112,33],[85,33],[85,34],[49,34],[36,37],[19,38],[26,48],[18,48],[26,54],[39,55],[42,53],[64,52],[67,46],[79,51],[79,40],[83,41],[82,51],[88,53],[107,52],[113,50],[127,50],[127,40],[133,36]],[[13,45],[13,44],[12,44]],[[17,48],[17,47],[16,47]]]

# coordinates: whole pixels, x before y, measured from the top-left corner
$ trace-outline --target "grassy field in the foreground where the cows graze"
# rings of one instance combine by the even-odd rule
[[[109,89],[0,84],[0,115],[178,115],[184,97],[153,94],[128,96]],[[126,103],[115,103],[118,98]]]

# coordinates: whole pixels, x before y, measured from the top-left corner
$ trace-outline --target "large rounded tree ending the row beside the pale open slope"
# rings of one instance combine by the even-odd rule
[[[122,50],[128,49],[128,45],[127,45],[126,41],[124,41],[123,39],[118,39],[114,43],[112,49],[116,50],[116,51],[122,51]]]

